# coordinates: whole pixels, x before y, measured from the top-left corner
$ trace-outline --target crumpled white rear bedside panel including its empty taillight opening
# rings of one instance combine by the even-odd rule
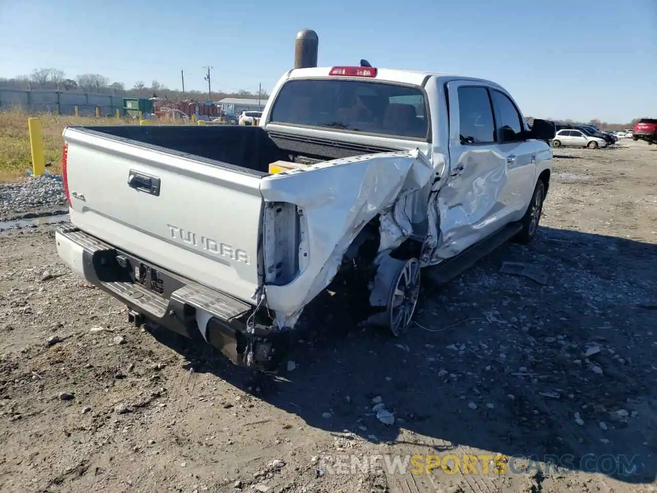
[[[332,160],[263,178],[263,294],[276,314],[275,326],[294,327],[376,216],[376,258],[399,247],[413,233],[409,199],[433,177],[430,160],[415,149]]]

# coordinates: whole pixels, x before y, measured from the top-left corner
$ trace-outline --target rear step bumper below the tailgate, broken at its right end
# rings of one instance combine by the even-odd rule
[[[56,238],[60,257],[127,305],[135,325],[150,321],[185,337],[202,335],[240,366],[271,370],[283,360],[289,331],[271,329],[254,306],[153,266],[72,225],[58,227]],[[198,310],[210,315],[205,333],[196,322]],[[248,319],[256,321],[252,331]]]

